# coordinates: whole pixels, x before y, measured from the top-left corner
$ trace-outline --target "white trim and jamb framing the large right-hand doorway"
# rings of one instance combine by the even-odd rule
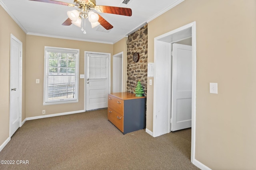
[[[191,29],[191,31],[190,31]],[[195,160],[195,137],[196,137],[196,22],[192,22],[189,23],[187,25],[184,25],[180,28],[177,28],[173,31],[170,31],[168,33],[165,33],[163,35],[160,35],[158,37],[154,38],[154,82],[157,82],[156,80],[159,81],[158,77],[161,76],[161,74],[166,74],[167,72],[167,76],[169,76],[170,79],[170,72],[168,73],[168,71],[170,70],[170,68],[165,68],[164,72],[157,72],[157,70],[161,70],[156,68],[158,66],[157,62],[158,62],[158,53],[159,53],[159,48],[165,48],[166,53],[170,53],[170,46],[171,43],[176,42],[177,40],[180,39],[184,39],[185,37],[178,37],[178,39],[172,39],[173,35],[176,33],[179,33],[180,31],[182,32],[186,32],[186,31],[190,31],[192,32],[192,128],[191,128],[191,162],[194,164],[194,160]],[[181,32],[180,32],[181,33]],[[189,36],[186,36],[189,37]],[[169,49],[168,49],[169,47]],[[170,61],[171,62],[171,61]],[[169,70],[168,70],[169,69]],[[168,80],[166,80],[168,81]],[[170,81],[170,80],[169,80]],[[162,82],[161,82],[162,83]],[[162,86],[162,87],[161,87]],[[168,96],[166,97],[166,99],[168,100],[167,103],[169,106],[165,106],[164,104],[161,104],[161,106],[165,106],[166,108],[163,108],[165,110],[168,110],[168,115],[167,117],[170,117],[170,89],[171,89],[171,84],[169,83],[169,86],[166,86],[165,88],[163,88],[163,84],[158,85],[157,83],[154,83],[154,102],[153,102],[153,137],[159,136],[159,135],[163,135],[164,133],[168,133],[170,132],[170,119],[166,119],[166,122],[162,122],[162,124],[166,124],[166,128],[163,130],[162,132],[158,132],[156,133],[156,131],[159,129],[157,129],[157,120],[156,120],[156,116],[161,114],[161,110],[159,110],[159,108],[157,107],[158,102],[164,102],[159,100],[159,95],[162,94],[164,90],[165,93],[168,94]],[[168,107],[168,108],[167,108]],[[168,125],[167,125],[168,123]]]

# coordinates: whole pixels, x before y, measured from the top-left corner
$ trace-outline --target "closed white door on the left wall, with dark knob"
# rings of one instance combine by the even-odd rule
[[[11,36],[10,44],[10,137],[20,127],[22,43]]]

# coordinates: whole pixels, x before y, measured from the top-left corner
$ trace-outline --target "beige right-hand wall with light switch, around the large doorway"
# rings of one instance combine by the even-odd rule
[[[195,158],[211,169],[255,169],[256,1],[185,0],[148,23],[148,62],[154,37],[196,21]],[[209,83],[218,83],[218,94]],[[148,86],[150,87],[150,86]],[[153,86],[147,128],[152,130]]]

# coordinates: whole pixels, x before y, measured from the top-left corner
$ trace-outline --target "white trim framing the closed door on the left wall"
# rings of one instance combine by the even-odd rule
[[[20,100],[19,100],[19,109],[18,110],[19,110],[19,116],[20,116],[20,126],[19,127],[21,127],[21,125],[22,125],[22,122],[21,122],[21,120],[22,120],[22,42],[18,38],[16,38],[14,35],[11,34],[10,35],[10,48],[12,48],[12,39],[14,41],[17,41],[20,44],[20,57],[19,57],[19,61],[18,61],[18,65],[19,65],[18,70],[19,70],[19,73],[20,73],[19,81],[18,81],[18,88],[20,89],[20,94],[19,94]],[[10,49],[10,51],[11,51],[11,49]],[[11,57],[11,54],[10,54],[10,57]],[[10,63],[10,69],[11,69],[11,63]],[[10,80],[11,80],[11,76],[12,75],[10,74]],[[10,90],[9,95],[10,96],[11,96],[11,88],[12,87],[11,87],[11,84],[10,84],[10,88],[9,88],[9,90]],[[10,106],[11,106],[11,104],[9,104],[9,137],[11,137]]]

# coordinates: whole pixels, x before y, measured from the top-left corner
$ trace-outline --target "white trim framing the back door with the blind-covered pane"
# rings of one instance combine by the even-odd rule
[[[86,73],[86,55],[87,53],[91,54],[103,54],[108,55],[109,57],[109,66],[108,66],[108,72],[109,72],[109,92],[111,89],[111,53],[100,53],[100,52],[94,52],[94,51],[84,51],[84,75],[87,75]],[[86,76],[84,76],[84,111],[86,111]]]

